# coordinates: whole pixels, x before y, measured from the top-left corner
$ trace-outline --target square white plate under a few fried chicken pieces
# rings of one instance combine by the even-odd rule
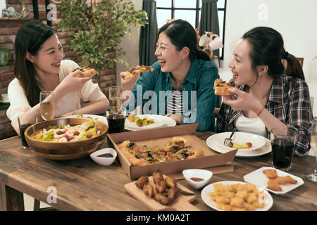
[[[245,176],[243,176],[244,181],[256,184],[257,186],[261,186],[262,188],[270,191],[271,193],[275,193],[276,195],[283,195],[289,191],[292,191],[293,189],[301,186],[304,184],[304,181],[302,178],[298,176],[294,176],[292,174],[289,174],[287,172],[283,172],[280,169],[276,169],[276,174],[278,176],[291,176],[292,179],[297,180],[296,184],[280,184],[280,187],[282,188],[282,191],[273,191],[271,189],[266,188],[268,184],[268,177],[266,174],[263,174],[263,170],[265,169],[275,169],[273,167],[261,167],[260,169],[256,169],[254,172],[251,172]]]

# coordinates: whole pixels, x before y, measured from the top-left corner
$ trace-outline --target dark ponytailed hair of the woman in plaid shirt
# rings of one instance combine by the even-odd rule
[[[305,79],[298,60],[285,51],[282,35],[278,31],[271,27],[255,27],[243,34],[242,39],[249,41],[251,46],[250,58],[254,72],[256,66],[268,65],[268,75],[273,78],[286,74]],[[286,70],[282,58],[287,60]]]

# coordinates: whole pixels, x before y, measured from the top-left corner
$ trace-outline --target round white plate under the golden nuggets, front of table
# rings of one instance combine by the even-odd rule
[[[247,184],[247,183],[242,182],[242,181],[219,181],[219,182],[209,184],[208,186],[204,187],[204,189],[201,191],[201,199],[204,201],[204,203],[206,205],[208,205],[209,207],[213,208],[213,210],[223,211],[223,210],[218,209],[218,207],[216,206],[216,202],[211,200],[211,197],[209,196],[209,193],[213,192],[213,186],[215,184],[223,184],[223,185],[230,184],[231,185],[231,184]],[[263,191],[263,193],[264,193],[264,207],[263,208],[256,208],[255,211],[268,211],[268,210],[270,210],[272,205],[273,205],[272,196],[270,195],[270,193],[268,193],[263,188],[261,188],[259,186],[257,186],[256,188],[258,188],[259,191]]]

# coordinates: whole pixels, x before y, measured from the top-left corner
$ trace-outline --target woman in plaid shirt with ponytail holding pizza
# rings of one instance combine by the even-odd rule
[[[313,121],[309,88],[299,62],[285,51],[281,34],[255,27],[243,35],[233,56],[230,83],[238,89],[228,89],[235,96],[223,96],[217,132],[237,127],[270,139],[271,129],[292,125],[299,131],[294,154],[306,155]]]

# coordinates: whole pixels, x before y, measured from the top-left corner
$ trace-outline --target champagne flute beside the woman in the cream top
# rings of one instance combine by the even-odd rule
[[[53,91],[41,91],[39,94],[41,116],[43,120],[51,120],[55,116],[55,104]]]

